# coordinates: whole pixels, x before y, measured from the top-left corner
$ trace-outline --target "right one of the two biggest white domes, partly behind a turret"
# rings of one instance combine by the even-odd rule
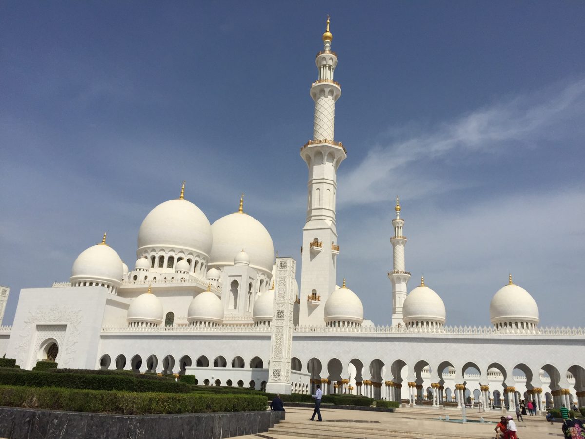
[[[250,267],[269,274],[274,266],[274,244],[269,232],[256,218],[236,212],[219,218],[211,226],[213,246],[209,267],[233,265],[245,249]]]

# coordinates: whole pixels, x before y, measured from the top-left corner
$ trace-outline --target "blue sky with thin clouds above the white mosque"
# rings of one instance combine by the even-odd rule
[[[391,317],[394,198],[409,290],[447,324],[487,325],[507,283],[542,325],[583,325],[585,3],[4,2],[0,8],[0,283],[70,275],[108,242],[130,267],[157,204],[213,222],[238,206],[300,259],[315,53],[335,78],[338,282]],[[576,304],[576,306],[573,306]]]

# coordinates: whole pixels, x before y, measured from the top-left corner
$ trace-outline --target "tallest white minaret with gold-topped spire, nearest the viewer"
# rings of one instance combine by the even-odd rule
[[[315,101],[313,140],[301,148],[309,167],[307,222],[302,228],[301,307],[299,324],[324,324],[325,301],[335,291],[339,245],[335,227],[337,169],[346,153],[335,142],[335,102],[341,87],[333,81],[337,55],[331,50],[333,35],[323,34],[323,50],[316,56],[319,78],[311,85]],[[310,297],[309,297],[310,296]]]

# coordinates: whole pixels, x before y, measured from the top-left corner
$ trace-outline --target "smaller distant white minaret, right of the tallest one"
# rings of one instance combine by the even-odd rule
[[[390,242],[394,246],[394,270],[388,272],[388,278],[392,281],[392,324],[397,326],[402,321],[402,304],[407,295],[407,283],[410,279],[410,273],[404,270],[404,246],[406,245],[406,236],[402,235],[402,226],[404,219],[400,218],[400,199],[396,197],[396,218],[392,220],[394,226],[394,236]]]

